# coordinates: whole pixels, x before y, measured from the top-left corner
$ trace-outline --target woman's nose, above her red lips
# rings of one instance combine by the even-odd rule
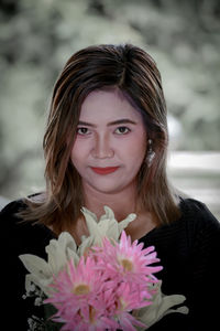
[[[109,137],[97,136],[92,148],[92,157],[96,159],[109,159],[114,154]]]

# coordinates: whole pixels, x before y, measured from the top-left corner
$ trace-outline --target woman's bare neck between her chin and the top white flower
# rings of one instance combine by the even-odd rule
[[[128,214],[135,212],[136,190],[134,185],[116,193],[102,193],[85,185],[84,196],[85,206],[94,212],[98,218],[105,213],[105,205],[114,212],[118,221],[122,221]]]

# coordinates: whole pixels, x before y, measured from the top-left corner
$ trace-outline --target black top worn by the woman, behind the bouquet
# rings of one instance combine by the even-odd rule
[[[146,247],[155,246],[160,265],[163,266],[163,270],[156,274],[163,281],[162,291],[165,295],[184,295],[189,314],[167,314],[147,330],[219,330],[220,223],[198,201],[182,199],[179,206],[179,220],[152,229],[140,242]],[[4,308],[6,313],[10,312],[9,328],[6,330],[26,331],[28,318],[42,314],[42,307],[35,307],[33,299],[22,298],[28,271],[18,256],[34,254],[46,259],[45,246],[54,238],[54,234],[44,225],[22,223],[14,215],[24,207],[25,204],[20,200],[8,204],[1,212],[1,252],[6,257]]]

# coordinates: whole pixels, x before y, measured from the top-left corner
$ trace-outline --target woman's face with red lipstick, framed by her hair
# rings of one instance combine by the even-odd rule
[[[145,151],[142,116],[122,93],[91,92],[81,105],[70,156],[85,190],[107,194],[133,188]]]

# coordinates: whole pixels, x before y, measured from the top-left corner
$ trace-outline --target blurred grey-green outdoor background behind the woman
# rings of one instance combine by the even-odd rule
[[[219,0],[0,0],[1,205],[44,189],[46,114],[68,57],[124,42],[162,73],[170,180],[220,220]]]

